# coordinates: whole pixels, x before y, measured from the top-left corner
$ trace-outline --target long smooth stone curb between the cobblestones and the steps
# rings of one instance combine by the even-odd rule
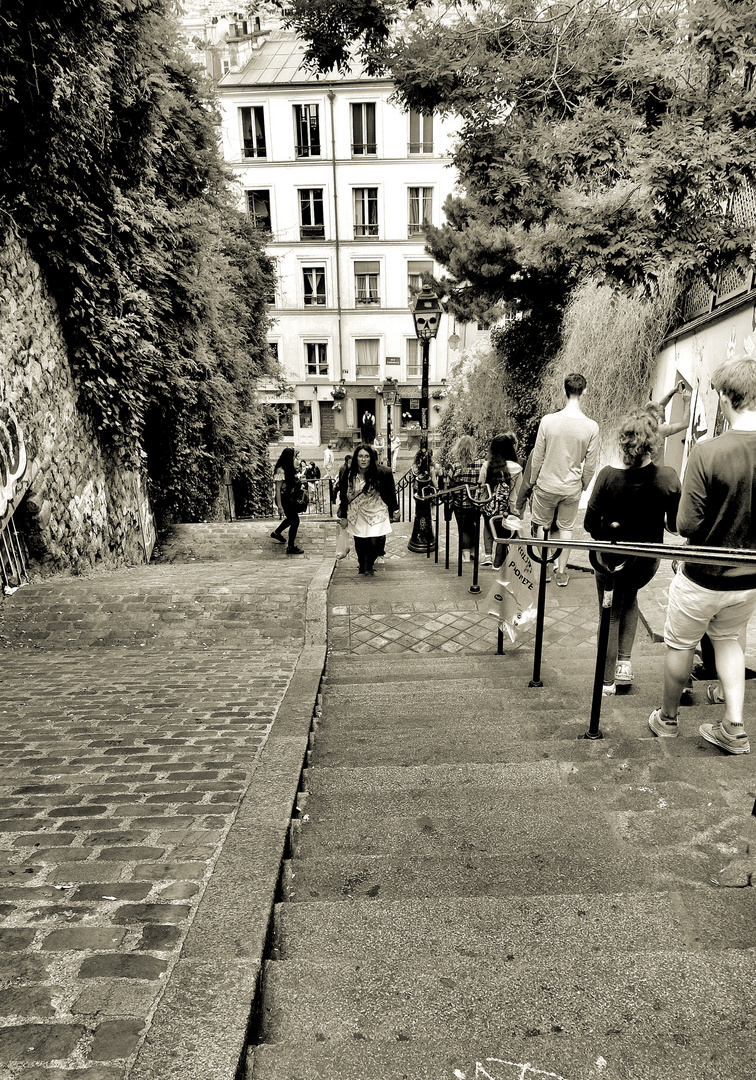
[[[130,1080],[234,1080],[254,1024],[289,822],[326,658],[335,558],[307,590],[292,680]]]

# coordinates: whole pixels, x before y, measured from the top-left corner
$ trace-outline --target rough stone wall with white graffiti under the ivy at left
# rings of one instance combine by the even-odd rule
[[[12,232],[0,235],[0,531],[11,516],[41,572],[144,563],[154,543],[145,482],[80,413],[57,308]]]

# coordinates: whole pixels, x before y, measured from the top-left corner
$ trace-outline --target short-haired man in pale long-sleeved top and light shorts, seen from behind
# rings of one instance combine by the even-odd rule
[[[549,413],[539,423],[530,461],[534,485],[530,521],[549,529],[549,536],[558,540],[572,539],[580,496],[596,471],[598,424],[582,410],[585,386],[582,375],[567,376],[567,404],[559,413]],[[563,588],[569,581],[568,555],[569,551],[563,548],[556,563],[556,583]]]

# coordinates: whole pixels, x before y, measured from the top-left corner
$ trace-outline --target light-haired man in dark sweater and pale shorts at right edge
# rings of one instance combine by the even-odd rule
[[[756,357],[721,364],[712,378],[729,430],[697,443],[683,483],[677,528],[691,543],[756,549]],[[670,586],[664,624],[664,696],[648,718],[656,735],[677,734],[677,710],[696,646],[707,634],[725,698],[720,724],[702,724],[703,738],[729,754],[751,750],[743,724],[745,659],[741,634],[756,610],[752,567],[684,563]],[[714,701],[710,697],[710,701]]]

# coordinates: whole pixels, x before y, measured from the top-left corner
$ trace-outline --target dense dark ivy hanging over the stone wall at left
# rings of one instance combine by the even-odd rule
[[[210,86],[170,0],[6,0],[0,190],[57,300],[80,403],[146,455],[163,519],[265,469],[261,241],[234,208]],[[265,460],[264,460],[265,459]]]

